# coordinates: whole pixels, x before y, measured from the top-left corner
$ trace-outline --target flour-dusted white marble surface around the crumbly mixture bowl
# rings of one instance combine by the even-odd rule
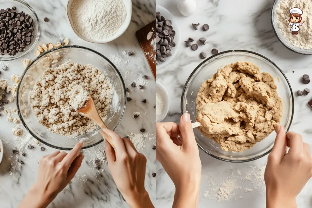
[[[129,87],[132,101],[127,103],[126,111],[122,123],[117,129],[121,135],[127,135],[131,132],[140,133],[141,128],[146,128],[147,133],[155,132],[155,81],[150,72],[148,63],[144,53],[141,50],[139,42],[135,37],[135,31],[154,19],[155,3],[153,0],[133,0],[133,10],[131,23],[127,31],[113,42],[107,44],[91,44],[79,39],[71,30],[66,17],[66,0],[26,0],[37,13],[41,23],[41,35],[39,43],[53,42],[58,39],[68,37],[71,45],[81,45],[94,49],[104,56],[107,56],[121,72],[126,87]],[[1,4],[0,4],[1,5]],[[44,22],[44,17],[50,19]],[[128,57],[123,55],[123,51],[134,51],[135,56]],[[29,53],[26,58],[34,59],[35,51]],[[119,54],[119,56],[117,56]],[[22,74],[21,60],[5,62],[9,70],[1,70],[1,78],[10,79],[13,73]],[[2,65],[3,65],[2,64]],[[2,68],[2,65],[0,66]],[[145,89],[131,89],[130,84],[134,81],[137,85],[142,80],[138,79],[143,75],[149,76],[149,81],[145,85]],[[12,83],[11,83],[12,84]],[[2,91],[1,91],[2,92]],[[143,99],[147,99],[147,103],[141,103]],[[15,102],[15,101],[14,101]],[[15,103],[9,104],[7,107],[16,107]],[[140,112],[140,118],[134,119],[134,112]],[[2,114],[2,112],[0,112]],[[17,115],[13,115],[17,117]],[[12,154],[12,148],[18,147],[17,138],[11,133],[13,123],[6,121],[6,115],[0,117],[0,138],[4,145],[4,159],[0,164],[0,207],[13,208],[17,207],[19,202],[27,193],[28,189],[36,181],[38,162],[40,158],[55,151],[55,149],[46,148],[45,152],[40,152],[40,147],[34,150],[26,150],[26,157],[22,158],[25,165],[17,163],[18,157]],[[22,140],[27,138],[23,137]],[[155,151],[152,146],[155,141],[147,141],[146,147],[142,151],[148,158],[146,171],[146,189],[150,193],[152,201],[155,201],[155,178],[152,173],[155,171]],[[117,190],[113,182],[107,165],[104,165],[104,171],[97,171],[95,165],[90,162],[96,158],[95,152],[102,144],[84,150],[86,155],[82,167],[77,173],[75,179],[66,189],[61,192],[49,206],[50,208],[61,207],[105,207],[119,208],[128,207],[123,200],[121,194]]]

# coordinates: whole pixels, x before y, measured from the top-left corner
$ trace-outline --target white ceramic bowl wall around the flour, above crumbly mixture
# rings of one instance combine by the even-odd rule
[[[113,41],[115,39],[117,39],[119,36],[121,36],[124,31],[127,30],[130,22],[131,22],[131,15],[132,15],[132,1],[131,0],[123,0],[124,2],[124,5],[126,7],[126,12],[127,12],[127,16],[126,16],[126,19],[124,21],[124,24],[119,28],[119,30],[116,32],[116,34],[114,36],[111,36],[110,38],[107,38],[105,40],[102,40],[102,41],[96,41],[96,40],[92,40],[90,38],[87,38],[87,37],[84,37],[84,36],[81,36],[76,28],[74,27],[74,23],[73,23],[73,20],[71,18],[71,4],[73,3],[74,0],[68,0],[67,2],[67,7],[66,7],[66,13],[67,13],[67,18],[70,22],[70,25],[71,25],[71,28],[73,29],[73,31],[76,33],[76,35],[78,37],[80,37],[82,40],[85,40],[85,41],[88,41],[88,42],[91,42],[91,43],[108,43],[110,41]]]

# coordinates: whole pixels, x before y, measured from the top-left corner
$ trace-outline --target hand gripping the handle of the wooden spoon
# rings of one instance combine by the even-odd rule
[[[130,207],[154,208],[145,190],[146,157],[139,153],[129,138],[103,129],[114,141],[115,149],[105,140],[108,168],[118,190]]]

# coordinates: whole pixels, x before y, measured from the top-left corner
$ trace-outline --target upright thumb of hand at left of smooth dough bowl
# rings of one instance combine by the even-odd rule
[[[180,133],[182,137],[182,146],[185,148],[196,146],[195,136],[192,128],[190,114],[184,113],[180,119]]]

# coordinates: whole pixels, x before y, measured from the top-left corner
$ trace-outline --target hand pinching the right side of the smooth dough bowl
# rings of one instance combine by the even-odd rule
[[[286,134],[280,125],[276,134],[264,175],[266,205],[267,208],[297,207],[296,197],[312,177],[310,145],[298,133]]]

